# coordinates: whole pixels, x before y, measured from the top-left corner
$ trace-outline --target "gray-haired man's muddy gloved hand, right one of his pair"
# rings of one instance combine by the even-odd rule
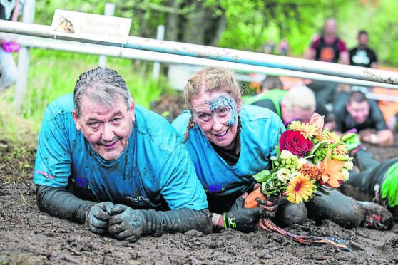
[[[119,240],[135,242],[146,227],[143,214],[122,204],[116,204],[111,209],[108,232]]]

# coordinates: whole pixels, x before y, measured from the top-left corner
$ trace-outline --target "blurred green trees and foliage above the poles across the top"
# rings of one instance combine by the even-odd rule
[[[155,38],[156,27],[168,24],[170,15],[177,15],[178,34],[173,41],[182,40],[184,35],[196,32],[195,25],[183,25],[205,12],[210,17],[223,17],[226,26],[223,33],[215,33],[217,20],[205,21],[206,37],[218,38],[218,46],[247,51],[263,52],[263,46],[272,39],[279,43],[287,38],[292,56],[301,57],[310,43],[313,33],[320,33],[327,16],[334,16],[339,22],[338,33],[348,48],[357,45],[357,32],[369,31],[370,46],[374,48],[381,63],[398,65],[398,16],[395,0],[108,0],[116,4],[115,16],[131,18],[132,36]],[[36,1],[36,24],[51,24],[55,9],[66,9],[93,14],[103,14],[106,1]],[[221,23],[221,22],[220,22]],[[198,26],[198,25],[196,25]],[[213,28],[213,31],[211,31]],[[170,28],[166,28],[167,32]],[[194,37],[193,37],[194,38]],[[187,38],[185,38],[187,39]],[[189,38],[189,39],[192,39]],[[195,42],[200,43],[200,42]]]

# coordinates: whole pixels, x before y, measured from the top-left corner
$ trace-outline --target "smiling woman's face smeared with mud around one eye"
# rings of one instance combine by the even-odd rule
[[[205,137],[219,147],[235,148],[241,100],[236,103],[228,93],[217,91],[200,93],[191,104],[195,123]]]

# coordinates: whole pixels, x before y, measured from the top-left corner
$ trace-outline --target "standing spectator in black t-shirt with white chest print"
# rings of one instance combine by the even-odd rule
[[[367,31],[359,31],[358,46],[349,50],[349,64],[352,66],[377,68],[376,53],[367,46],[368,42],[369,35]]]

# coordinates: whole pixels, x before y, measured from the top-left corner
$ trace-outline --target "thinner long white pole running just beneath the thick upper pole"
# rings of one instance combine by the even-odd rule
[[[398,85],[377,83],[367,80],[357,80],[352,78],[342,78],[338,76],[325,76],[318,73],[305,73],[300,71],[292,71],[279,68],[270,68],[265,66],[251,66],[244,63],[232,63],[226,61],[218,61],[205,58],[194,58],[190,56],[178,56],[169,53],[158,53],[153,51],[141,51],[133,48],[120,48],[113,46],[105,46],[91,43],[79,43],[76,41],[54,41],[44,38],[31,38],[20,36],[18,38],[21,45],[26,45],[31,48],[42,48],[42,49],[53,49],[59,51],[71,51],[76,53],[88,53],[121,58],[132,58],[144,61],[159,61],[161,63],[180,63],[190,64],[194,66],[218,66],[223,68],[229,68],[235,71],[241,71],[245,73],[265,73],[267,75],[277,76],[293,76],[300,78],[310,78],[314,80],[325,80],[328,82],[335,83],[347,83],[351,85],[362,85],[362,86],[379,86],[383,88],[394,88],[398,89]]]

